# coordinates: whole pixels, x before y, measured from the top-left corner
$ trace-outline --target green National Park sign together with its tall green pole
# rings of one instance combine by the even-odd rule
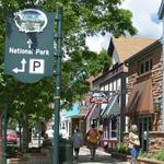
[[[37,9],[24,9],[9,14],[7,19],[4,73],[24,83],[35,83],[44,77],[52,77],[54,13]],[[62,8],[56,15],[58,24],[56,52],[55,132],[52,164],[59,164],[59,112],[61,85],[61,21]]]

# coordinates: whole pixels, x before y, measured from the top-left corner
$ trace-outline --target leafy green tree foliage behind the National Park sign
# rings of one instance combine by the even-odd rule
[[[61,99],[65,107],[79,99],[90,87],[86,79],[96,75],[109,65],[107,54],[93,52],[85,45],[86,36],[98,33],[114,36],[137,33],[132,26],[132,14],[120,9],[122,0],[0,0],[0,102],[10,104],[10,116],[37,114],[45,116],[48,104],[54,102],[55,79],[44,79],[35,84],[22,84],[3,74],[5,16],[24,8],[39,8],[56,12],[63,7],[63,58]],[[71,83],[71,78],[83,75]],[[50,112],[48,110],[47,117]]]

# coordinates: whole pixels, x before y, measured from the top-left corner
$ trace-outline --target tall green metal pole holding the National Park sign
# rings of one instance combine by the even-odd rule
[[[59,121],[60,121],[60,86],[61,86],[61,58],[62,58],[62,8],[60,7],[57,12],[57,55],[56,55],[56,99],[55,99],[55,130],[54,130],[54,149],[52,149],[52,164],[59,164]]]

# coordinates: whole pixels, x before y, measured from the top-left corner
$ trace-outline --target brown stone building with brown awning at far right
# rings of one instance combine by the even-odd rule
[[[144,152],[162,149],[162,44],[156,40],[125,61],[128,125],[137,124]]]

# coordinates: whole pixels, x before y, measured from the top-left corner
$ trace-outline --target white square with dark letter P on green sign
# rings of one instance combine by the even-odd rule
[[[30,73],[44,74],[45,60],[44,59],[30,59]]]

